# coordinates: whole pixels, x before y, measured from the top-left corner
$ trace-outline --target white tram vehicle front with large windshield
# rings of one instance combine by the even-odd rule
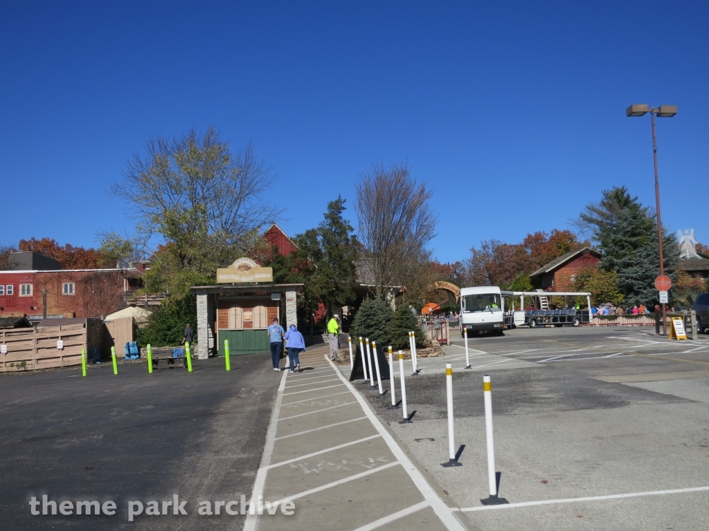
[[[461,331],[502,333],[505,329],[505,307],[497,286],[463,287],[460,290]]]

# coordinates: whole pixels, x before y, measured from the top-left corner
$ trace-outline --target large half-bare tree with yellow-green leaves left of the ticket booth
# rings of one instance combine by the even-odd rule
[[[191,130],[149,139],[145,154],[128,161],[123,181],[111,185],[130,205],[139,239],[164,244],[145,275],[146,289],[183,297],[190,285],[214,282],[217,268],[245,255],[279,215],[264,200],[273,178],[251,145],[234,152],[213,127],[204,135]],[[123,248],[111,238],[113,249]]]

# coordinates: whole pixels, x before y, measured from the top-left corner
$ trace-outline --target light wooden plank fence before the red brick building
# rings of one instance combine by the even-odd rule
[[[82,348],[88,353],[89,348],[101,346],[103,335],[101,319],[36,329],[0,330],[0,345],[7,349],[7,353],[0,353],[0,372],[79,365]],[[57,348],[57,341],[62,341],[62,348]]]

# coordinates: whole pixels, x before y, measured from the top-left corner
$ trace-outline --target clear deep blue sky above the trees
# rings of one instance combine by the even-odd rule
[[[493,4],[493,5],[492,5]],[[296,234],[372,162],[435,190],[441,261],[568,227],[601,190],[709,243],[709,4],[10,2],[0,4],[0,243],[96,245],[130,230],[106,195],[150,136],[213,125],[277,171]]]

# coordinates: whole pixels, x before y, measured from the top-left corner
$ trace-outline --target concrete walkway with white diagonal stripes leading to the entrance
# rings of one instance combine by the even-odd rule
[[[295,513],[249,515],[245,531],[467,530],[327,349],[300,360],[283,373],[252,493]]]

